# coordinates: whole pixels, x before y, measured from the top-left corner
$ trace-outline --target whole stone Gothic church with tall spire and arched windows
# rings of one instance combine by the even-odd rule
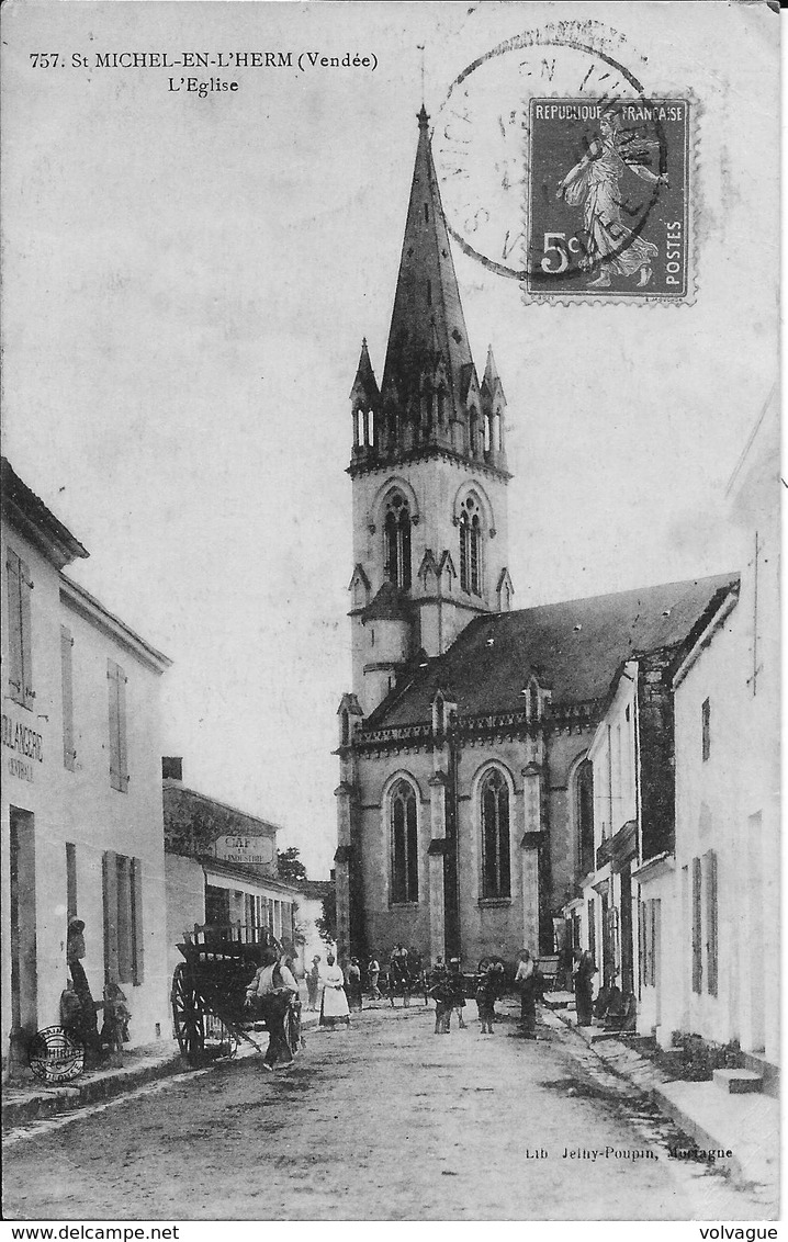
[[[506,396],[492,349],[479,379],[418,119],[382,381],[364,342],[350,391],[337,940],[474,968],[556,951],[594,869],[588,751],[614,677],[677,648],[721,582],[513,607]]]

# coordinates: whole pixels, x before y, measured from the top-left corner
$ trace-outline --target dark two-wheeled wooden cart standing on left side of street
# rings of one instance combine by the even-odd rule
[[[246,989],[266,950],[282,955],[282,945],[268,928],[195,924],[194,932],[184,933],[178,948],[184,961],[173,975],[173,1025],[189,1063],[199,1066],[216,1057],[231,1057],[241,1040],[263,1052],[250,1032],[265,1030],[265,1022],[255,1021],[250,1012]],[[291,1054],[303,1047],[297,999],[285,1015],[285,1038]]]

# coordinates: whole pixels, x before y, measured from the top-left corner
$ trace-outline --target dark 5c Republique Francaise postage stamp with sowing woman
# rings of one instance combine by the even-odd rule
[[[523,292],[687,301],[689,98],[532,98]]]

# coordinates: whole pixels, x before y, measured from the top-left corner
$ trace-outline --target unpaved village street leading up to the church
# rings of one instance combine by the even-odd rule
[[[669,1159],[670,1123],[553,1015],[531,1042],[503,1007],[492,1036],[474,1002],[449,1036],[423,1006],[367,1010],[308,1030],[291,1069],[244,1057],[36,1123],[6,1145],[6,1218],[764,1217]]]

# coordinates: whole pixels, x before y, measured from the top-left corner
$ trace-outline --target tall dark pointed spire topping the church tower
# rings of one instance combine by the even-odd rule
[[[438,397],[440,384],[436,383],[436,371],[441,364],[444,391]],[[395,407],[398,426],[410,421],[424,428],[438,421],[439,433],[435,436],[431,427],[431,438],[447,441],[450,422],[465,421],[464,396],[469,390],[470,373],[475,374],[474,359],[433,163],[429,117],[421,104],[405,240],[380,389],[384,406]]]

